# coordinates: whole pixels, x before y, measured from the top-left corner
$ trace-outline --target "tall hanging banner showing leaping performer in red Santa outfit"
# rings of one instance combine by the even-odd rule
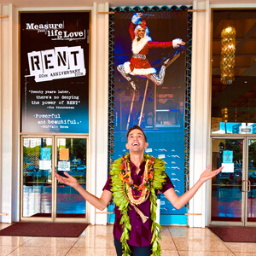
[[[127,130],[140,125],[148,138],[146,152],[166,161],[177,195],[184,192],[187,15],[114,14],[114,159],[127,152]],[[161,196],[161,216],[185,212]]]

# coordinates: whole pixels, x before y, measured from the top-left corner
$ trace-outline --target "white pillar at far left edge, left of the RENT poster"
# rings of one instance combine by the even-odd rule
[[[0,20],[0,90],[1,90],[1,213],[8,215],[1,218],[3,223],[11,223],[18,218],[15,212],[18,211],[18,191],[19,183],[19,90],[18,73],[15,61],[17,57],[17,25],[15,9],[11,4],[0,5],[0,14],[9,15]],[[16,208],[16,209],[15,209]]]

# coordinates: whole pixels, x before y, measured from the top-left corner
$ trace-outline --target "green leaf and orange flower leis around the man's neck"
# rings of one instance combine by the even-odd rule
[[[155,191],[162,189],[163,184],[166,182],[165,161],[160,160],[159,158],[154,158],[149,154],[145,154],[144,160],[146,161],[146,165],[143,174],[143,183],[137,186],[131,179],[129,160],[130,154],[126,154],[125,156],[119,158],[113,163],[110,172],[112,179],[111,190],[113,192],[113,201],[119,207],[119,211],[121,212],[122,216],[120,224],[122,224],[123,233],[120,241],[122,243],[123,256],[131,255],[131,250],[127,243],[127,241],[130,239],[129,233],[131,230],[130,217],[128,216],[128,208],[130,208],[129,204],[136,209],[136,205],[146,201],[148,196],[151,202],[150,218],[152,220],[151,232],[153,233],[151,240],[151,256],[160,256],[161,248],[159,241],[161,236],[159,230],[161,230],[161,226],[155,222],[157,207],[157,195]],[[137,198],[134,198],[132,195],[132,189],[137,189],[137,191],[141,192]],[[147,221],[147,219],[145,221]]]

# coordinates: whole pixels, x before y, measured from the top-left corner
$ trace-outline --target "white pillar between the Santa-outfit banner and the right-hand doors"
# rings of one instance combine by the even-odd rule
[[[200,178],[207,167],[210,119],[210,8],[209,1],[193,4],[193,9],[206,9],[193,14],[192,72],[191,72],[191,130],[189,187]],[[206,183],[189,201],[189,226],[206,225]],[[194,214],[194,215],[193,215]]]

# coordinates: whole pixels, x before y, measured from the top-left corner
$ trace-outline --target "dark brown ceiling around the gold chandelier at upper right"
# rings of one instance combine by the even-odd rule
[[[235,81],[220,81],[220,32],[236,28]],[[212,16],[212,116],[221,118],[228,108],[228,122],[256,123],[256,9],[216,10]]]

